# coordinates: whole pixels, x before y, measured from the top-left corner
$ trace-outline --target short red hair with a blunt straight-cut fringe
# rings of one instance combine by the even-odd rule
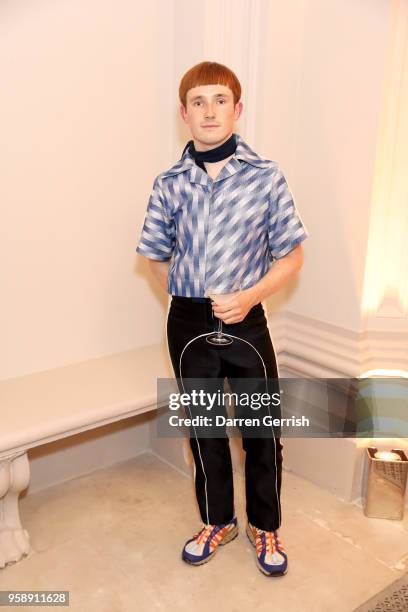
[[[226,85],[233,93],[234,106],[241,99],[241,84],[237,76],[223,64],[201,62],[185,73],[179,86],[179,98],[184,108],[187,108],[187,92],[199,85]]]

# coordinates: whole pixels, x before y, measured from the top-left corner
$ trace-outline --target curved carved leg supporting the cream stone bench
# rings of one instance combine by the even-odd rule
[[[29,535],[23,529],[18,496],[30,481],[26,452],[0,458],[0,568],[19,561],[30,550]]]

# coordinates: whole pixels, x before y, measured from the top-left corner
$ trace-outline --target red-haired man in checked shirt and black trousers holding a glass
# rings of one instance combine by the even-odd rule
[[[234,122],[242,112],[236,75],[216,62],[191,68],[179,87],[180,113],[192,140],[181,159],[153,185],[137,252],[172,295],[167,338],[177,378],[208,379],[220,390],[228,379],[242,390],[249,379],[278,380],[262,301],[291,280],[303,264],[307,237],[278,164],[258,156]],[[227,301],[212,293],[235,293]],[[220,319],[233,340],[206,342]],[[182,373],[181,373],[182,370]],[[272,428],[271,428],[272,429]],[[279,538],[282,444],[271,435],[247,436],[246,532],[267,576],[287,571]],[[204,526],[182,551],[201,565],[238,533],[229,440],[190,436],[197,502]]]

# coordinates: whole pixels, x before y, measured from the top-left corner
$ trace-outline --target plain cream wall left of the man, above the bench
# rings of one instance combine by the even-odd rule
[[[163,337],[135,254],[167,161],[161,4],[0,5],[0,378]]]

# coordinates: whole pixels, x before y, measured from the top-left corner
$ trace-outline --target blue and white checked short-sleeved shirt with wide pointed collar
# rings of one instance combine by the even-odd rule
[[[215,180],[188,149],[154,180],[136,251],[171,258],[171,295],[247,289],[309,235],[278,164],[235,137],[236,151]]]

